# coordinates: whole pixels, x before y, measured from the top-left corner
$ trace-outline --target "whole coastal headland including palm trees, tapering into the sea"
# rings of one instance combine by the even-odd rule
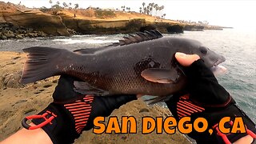
[[[145,3],[143,2],[145,5]],[[51,8],[27,8],[10,2],[0,2],[0,39],[70,36],[73,34],[129,34],[158,29],[162,33],[182,33],[183,30],[222,30],[207,22],[185,22],[165,19],[164,6],[142,6],[139,12],[122,6],[121,10],[88,7],[79,9],[58,2]]]

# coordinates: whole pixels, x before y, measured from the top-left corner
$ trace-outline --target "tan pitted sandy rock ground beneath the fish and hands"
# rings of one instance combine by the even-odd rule
[[[25,60],[26,54],[23,53],[0,52],[0,141],[22,128],[22,118],[37,114],[52,102],[51,95],[58,77],[26,86],[18,84]],[[189,143],[179,133],[156,134],[154,131],[151,134],[142,134],[143,116],[156,118],[171,114],[162,107],[147,106],[141,99],[114,110],[112,115],[120,119],[122,116],[134,116],[137,119],[138,134],[93,134],[92,131],[86,131],[75,143]]]

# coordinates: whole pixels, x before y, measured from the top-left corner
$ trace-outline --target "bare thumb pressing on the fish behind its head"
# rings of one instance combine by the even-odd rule
[[[182,66],[190,66],[194,61],[200,59],[198,54],[184,54],[180,52],[175,54],[175,58]]]

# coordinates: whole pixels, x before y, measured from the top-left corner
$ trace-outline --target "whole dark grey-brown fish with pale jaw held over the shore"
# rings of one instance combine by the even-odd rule
[[[164,37],[158,30],[129,34],[98,48],[70,51],[34,46],[23,51],[28,54],[22,84],[67,74],[79,79],[74,82],[78,93],[157,96],[151,102],[160,102],[185,89],[187,78],[174,58],[176,52],[198,54],[209,68],[226,60],[197,40]]]

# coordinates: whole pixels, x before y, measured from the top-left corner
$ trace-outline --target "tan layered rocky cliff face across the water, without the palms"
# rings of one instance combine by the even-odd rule
[[[128,34],[149,27],[166,33],[171,25],[171,22],[157,22],[157,18],[146,14],[102,10],[35,10],[0,2],[0,39],[69,36],[76,33]]]

